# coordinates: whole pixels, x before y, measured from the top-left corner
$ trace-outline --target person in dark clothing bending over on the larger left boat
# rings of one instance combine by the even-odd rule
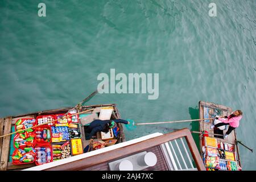
[[[94,120],[85,130],[87,134],[86,139],[91,139],[98,131],[108,133],[109,129],[112,129],[117,123],[129,124],[130,122],[124,119]]]

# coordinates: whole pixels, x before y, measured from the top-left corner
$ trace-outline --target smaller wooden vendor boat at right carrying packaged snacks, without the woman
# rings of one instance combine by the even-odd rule
[[[230,107],[214,104],[212,102],[199,102],[199,117],[214,118],[230,115]],[[210,129],[212,123],[220,122],[216,119],[202,120],[199,122],[200,153],[208,171],[238,171],[241,170],[239,147],[237,144],[236,130],[224,139],[227,127]]]

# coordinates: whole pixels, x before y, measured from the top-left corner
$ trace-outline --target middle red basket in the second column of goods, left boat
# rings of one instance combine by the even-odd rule
[[[44,129],[46,129],[46,130],[44,130]],[[47,130],[49,130],[48,134],[47,134]],[[46,132],[44,132],[44,131],[46,131]],[[35,135],[36,135],[36,137],[35,137],[36,144],[48,144],[48,143],[52,142],[51,126],[43,125],[43,126],[36,127]],[[43,138],[48,138],[48,139],[44,140]]]

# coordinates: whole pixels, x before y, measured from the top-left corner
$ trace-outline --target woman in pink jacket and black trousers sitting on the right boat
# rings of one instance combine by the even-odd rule
[[[241,110],[236,110],[232,114],[230,114],[229,117],[227,117],[227,116],[225,116],[224,118],[216,117],[216,119],[218,119],[222,123],[212,125],[212,126],[210,126],[210,128],[213,129],[214,127],[229,125],[229,129],[228,129],[228,131],[226,131],[226,134],[224,136],[224,138],[227,138],[228,135],[231,133],[231,131],[233,131],[234,129],[236,129],[239,126],[239,121],[242,118],[242,115],[243,115],[243,113]]]

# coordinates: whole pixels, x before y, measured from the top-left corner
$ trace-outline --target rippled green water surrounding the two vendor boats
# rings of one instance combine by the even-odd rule
[[[46,17],[38,3],[46,3]],[[217,17],[208,15],[209,3]],[[159,98],[97,94],[135,122],[198,117],[200,100],[241,109],[255,150],[256,1],[0,1],[0,117],[74,106],[97,76],[159,73]],[[138,126],[127,139],[191,124]],[[242,146],[243,169],[256,169]]]

